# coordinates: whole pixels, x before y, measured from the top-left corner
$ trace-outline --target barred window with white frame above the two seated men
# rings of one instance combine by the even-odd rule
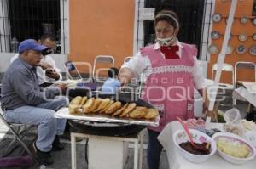
[[[1,0],[0,52],[17,52],[27,38],[56,38],[55,54],[67,54],[67,0]],[[66,26],[65,26],[66,25]],[[67,28],[66,28],[67,29]]]

